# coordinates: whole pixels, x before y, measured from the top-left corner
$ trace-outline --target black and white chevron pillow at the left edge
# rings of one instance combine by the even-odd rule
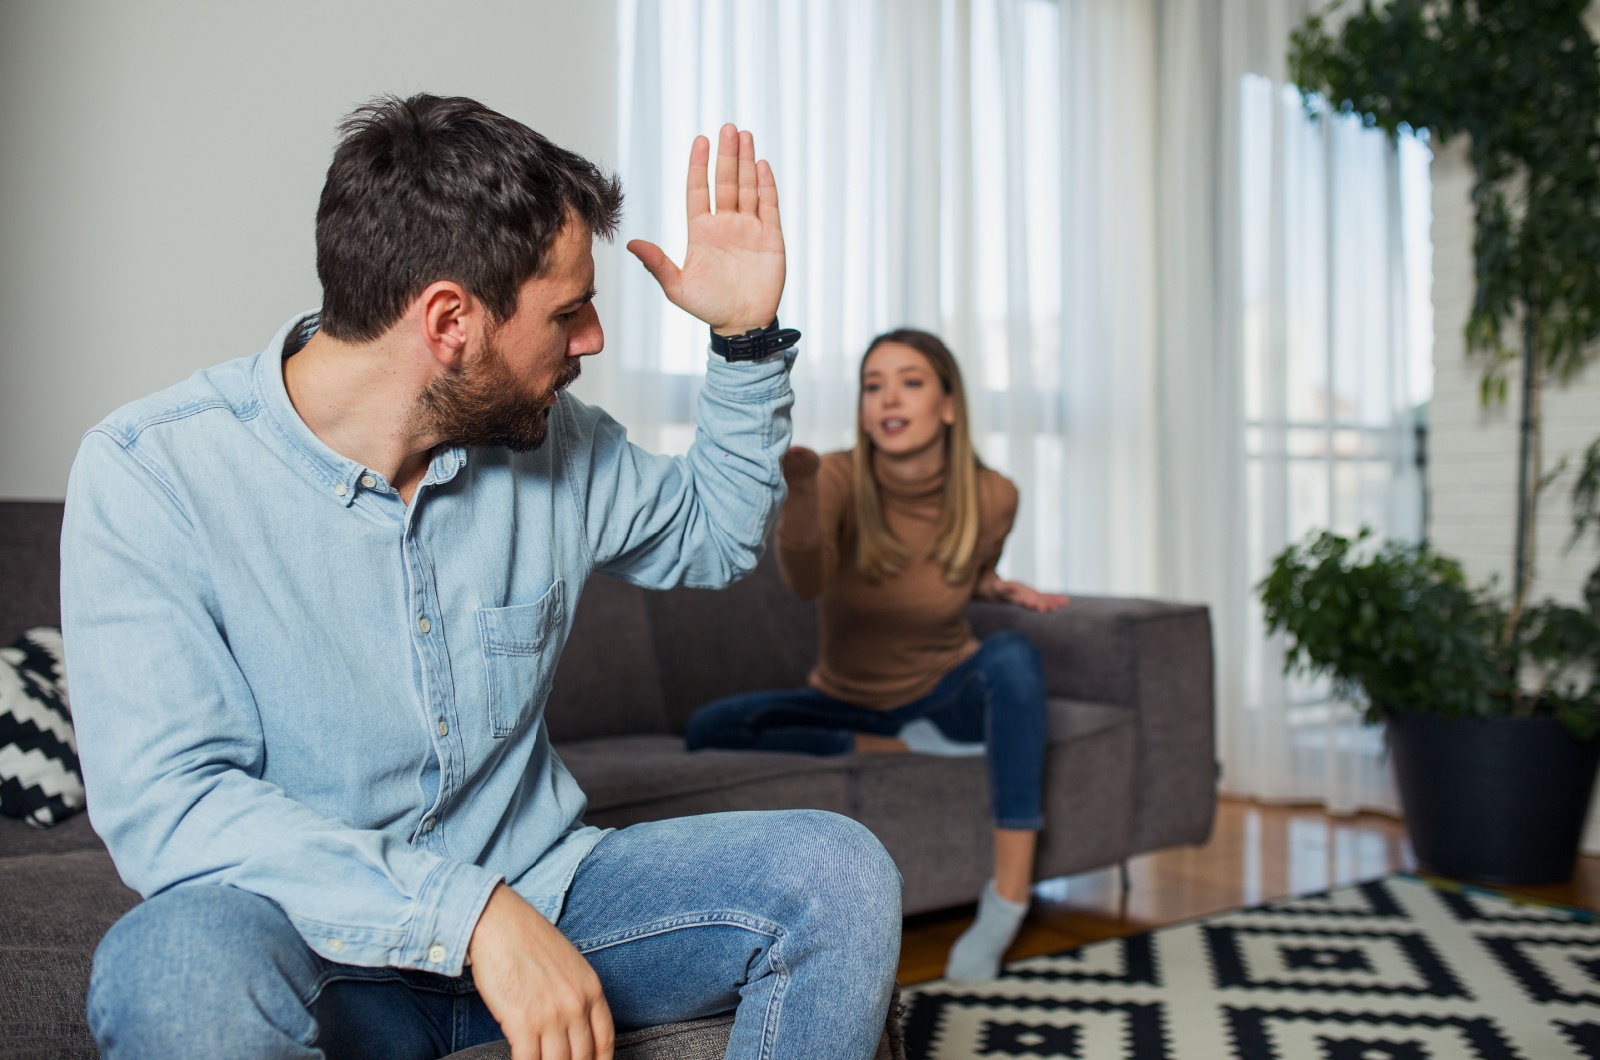
[[[48,828],[83,809],[59,629],[0,648],[0,815]]]

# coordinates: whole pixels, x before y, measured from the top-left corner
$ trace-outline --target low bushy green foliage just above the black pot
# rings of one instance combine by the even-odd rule
[[[1445,717],[1555,716],[1573,735],[1600,733],[1600,608],[1528,608],[1518,636],[1491,588],[1426,543],[1373,546],[1322,532],[1291,544],[1256,586],[1269,632],[1288,636],[1286,668],[1326,674],[1366,701],[1366,721],[1395,711]]]

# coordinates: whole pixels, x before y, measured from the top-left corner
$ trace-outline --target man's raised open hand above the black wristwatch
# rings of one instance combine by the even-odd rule
[[[755,139],[723,125],[717,143],[717,211],[710,208],[710,141],[690,149],[690,245],[683,267],[654,243],[627,248],[650,269],[674,306],[718,335],[763,328],[784,293],[784,232],[778,221],[773,168],[755,160]]]

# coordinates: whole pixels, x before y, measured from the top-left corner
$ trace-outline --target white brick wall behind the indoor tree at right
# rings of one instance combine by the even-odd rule
[[[1498,576],[1510,589],[1517,533],[1517,373],[1504,405],[1478,402],[1482,362],[1466,357],[1462,327],[1472,307],[1472,165],[1456,143],[1434,159],[1434,404],[1429,436],[1432,540],[1459,557],[1474,581]],[[1600,263],[1597,263],[1600,267]],[[1544,460],[1573,463],[1600,436],[1600,365],[1571,386],[1544,391]],[[1534,597],[1576,602],[1600,549],[1566,552],[1571,536],[1573,471],[1544,495],[1539,509]],[[1584,849],[1600,853],[1600,812],[1589,813]]]

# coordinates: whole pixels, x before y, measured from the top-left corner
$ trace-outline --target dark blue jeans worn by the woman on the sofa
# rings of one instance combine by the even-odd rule
[[[995,828],[1045,826],[1045,671],[1038,648],[1014,631],[986,637],[976,655],[906,706],[872,711],[814,689],[749,692],[694,711],[685,741],[690,751],[846,754],[854,733],[893,737],[917,719],[957,743],[986,745]]]

